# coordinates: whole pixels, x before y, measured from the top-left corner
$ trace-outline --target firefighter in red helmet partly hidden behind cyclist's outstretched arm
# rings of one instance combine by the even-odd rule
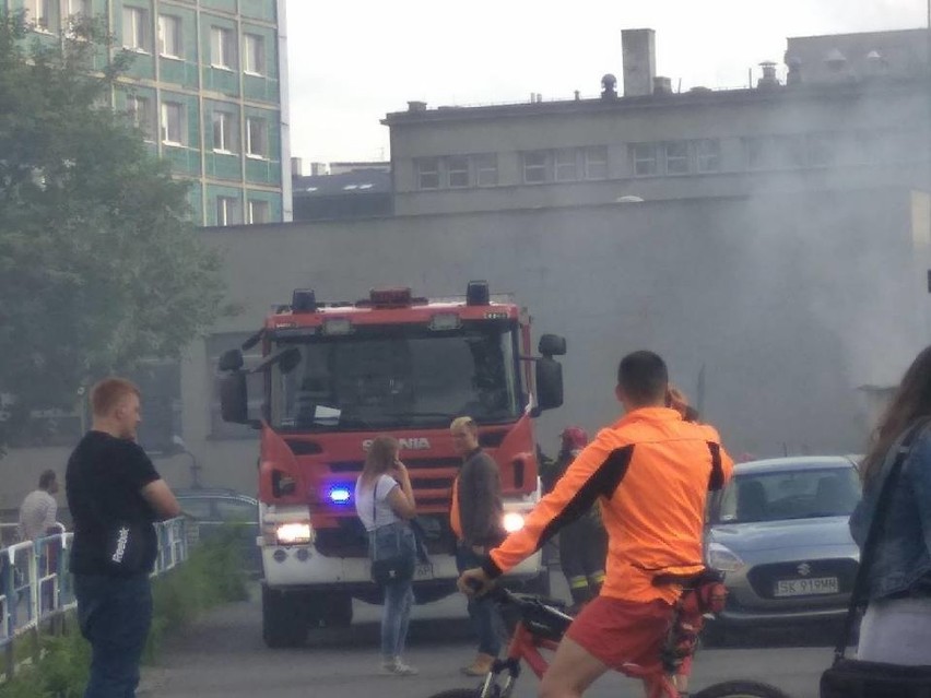
[[[581,427],[571,426],[563,430],[561,439],[556,457],[557,481],[588,443],[588,434]],[[606,556],[608,534],[601,523],[601,509],[596,502],[587,513],[559,531],[559,567],[573,595],[570,613],[577,613],[601,591]]]

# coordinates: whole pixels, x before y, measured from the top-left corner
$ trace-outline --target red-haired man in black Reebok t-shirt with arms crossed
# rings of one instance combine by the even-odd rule
[[[91,391],[94,422],[68,460],[74,522],[71,571],[81,634],[91,643],[84,698],[132,698],[152,623],[152,523],[180,513],[168,485],[135,442],[139,389],[107,378]]]

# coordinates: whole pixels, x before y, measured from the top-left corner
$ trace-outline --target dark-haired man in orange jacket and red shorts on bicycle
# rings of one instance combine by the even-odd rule
[[[601,594],[576,617],[540,685],[543,698],[581,696],[609,669],[638,665],[661,675],[660,651],[681,588],[659,576],[703,569],[707,493],[730,478],[733,461],[717,431],[667,406],[669,372],[652,352],[621,360],[615,394],[626,414],[602,429],[511,533],[466,570],[459,588],[491,581],[539,549],[566,523],[601,502],[609,536]],[[647,682],[647,690],[656,686]]]

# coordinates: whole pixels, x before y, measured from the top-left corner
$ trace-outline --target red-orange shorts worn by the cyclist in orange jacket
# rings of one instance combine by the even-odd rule
[[[566,637],[618,672],[661,675],[660,652],[671,623],[672,606],[664,601],[598,596],[576,616]]]

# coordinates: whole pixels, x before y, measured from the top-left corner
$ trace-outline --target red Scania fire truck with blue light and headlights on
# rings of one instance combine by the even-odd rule
[[[243,351],[259,343],[263,358],[247,369]],[[553,356],[565,354],[566,342],[544,334],[540,356],[530,346],[527,312],[471,282],[464,298],[447,299],[385,288],[364,300],[320,303],[296,289],[243,350],[221,356],[223,418],[261,431],[258,545],[270,647],[299,644],[310,627],[349,625],[353,598],[378,600],[353,502],[378,434],[401,442],[426,533],[431,564],[416,569],[419,603],[456,588],[448,520],[460,464],[449,436],[455,417],[479,424],[480,442],[500,468],[503,524],[522,525],[540,498],[533,417],[563,402]],[[249,413],[249,372],[264,379],[260,415]],[[509,579],[545,587],[540,553]]]

